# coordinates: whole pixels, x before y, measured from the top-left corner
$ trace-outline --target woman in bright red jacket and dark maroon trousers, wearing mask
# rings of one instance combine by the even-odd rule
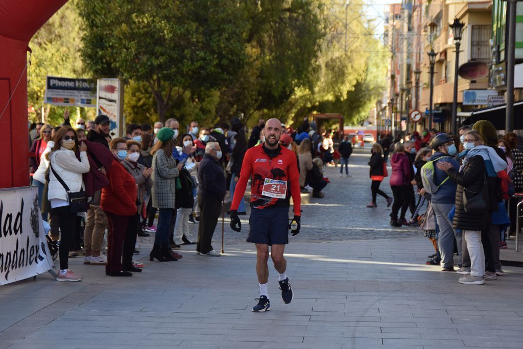
[[[111,184],[101,190],[100,207],[109,221],[105,273],[110,276],[132,276],[132,273],[123,270],[121,262],[123,238],[129,217],[137,213],[137,185],[120,162],[127,157],[126,142],[124,138],[111,141],[110,149],[115,156],[111,167],[107,169]]]

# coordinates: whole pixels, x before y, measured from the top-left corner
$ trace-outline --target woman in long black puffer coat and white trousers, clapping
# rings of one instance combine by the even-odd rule
[[[467,147],[467,143],[472,143]],[[465,149],[482,145],[483,139],[476,131],[465,134]],[[461,277],[459,282],[462,284],[482,285],[484,284],[483,275],[485,274],[485,254],[481,243],[481,230],[485,229],[489,223],[488,206],[483,211],[466,212],[463,206],[463,192],[481,193],[486,180],[485,161],[481,155],[465,156],[460,171],[456,171],[449,162],[440,161],[436,166],[447,172],[449,178],[456,184],[456,213],[452,225],[454,229],[463,232],[463,238],[467,241],[467,249],[470,254],[471,266],[470,275]]]

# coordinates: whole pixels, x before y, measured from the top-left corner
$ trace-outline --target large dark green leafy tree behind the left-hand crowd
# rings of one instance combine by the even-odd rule
[[[149,85],[160,121],[187,92],[224,86],[246,59],[245,21],[227,0],[82,0],[80,14],[85,65]]]

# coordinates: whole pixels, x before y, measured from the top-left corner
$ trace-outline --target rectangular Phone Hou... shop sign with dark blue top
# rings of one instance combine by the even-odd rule
[[[48,76],[44,101],[62,107],[96,107],[95,83],[91,79]]]

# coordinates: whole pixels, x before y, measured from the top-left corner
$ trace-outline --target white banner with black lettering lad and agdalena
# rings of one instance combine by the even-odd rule
[[[0,190],[0,285],[47,272],[52,263],[38,188]]]

